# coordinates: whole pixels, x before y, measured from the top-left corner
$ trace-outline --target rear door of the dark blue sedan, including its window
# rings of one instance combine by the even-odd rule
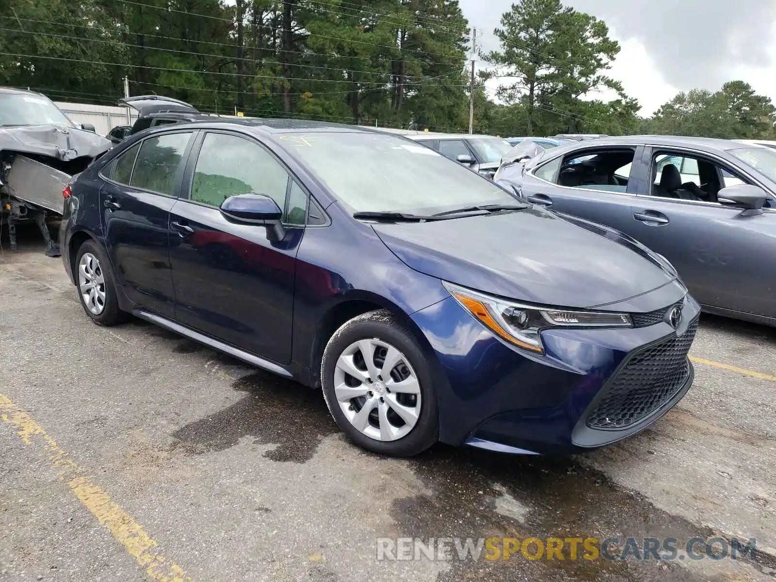
[[[168,220],[178,197],[192,131],[135,144],[102,171],[99,205],[106,248],[127,299],[172,317]]]

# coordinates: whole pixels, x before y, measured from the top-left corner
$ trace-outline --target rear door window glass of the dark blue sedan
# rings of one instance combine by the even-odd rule
[[[149,137],[140,144],[130,186],[175,196],[175,174],[181,165],[191,132]]]

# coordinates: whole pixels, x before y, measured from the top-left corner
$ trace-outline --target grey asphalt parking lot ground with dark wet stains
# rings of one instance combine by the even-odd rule
[[[343,438],[320,393],[140,321],[95,326],[20,235],[0,251],[0,580],[776,576],[774,329],[702,317],[687,397],[608,449],[385,459]],[[379,538],[696,535],[757,552],[376,559]]]

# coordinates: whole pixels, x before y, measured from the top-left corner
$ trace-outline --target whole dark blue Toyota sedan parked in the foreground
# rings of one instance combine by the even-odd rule
[[[322,388],[365,449],[573,452],[689,389],[699,307],[608,227],[396,135],[287,120],[147,130],[63,192],[85,313]]]

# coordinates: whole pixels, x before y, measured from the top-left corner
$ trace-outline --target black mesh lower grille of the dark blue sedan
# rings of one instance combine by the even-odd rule
[[[681,337],[669,338],[632,355],[587,417],[587,426],[625,428],[670,400],[690,374],[687,354],[697,330],[696,318]]]

